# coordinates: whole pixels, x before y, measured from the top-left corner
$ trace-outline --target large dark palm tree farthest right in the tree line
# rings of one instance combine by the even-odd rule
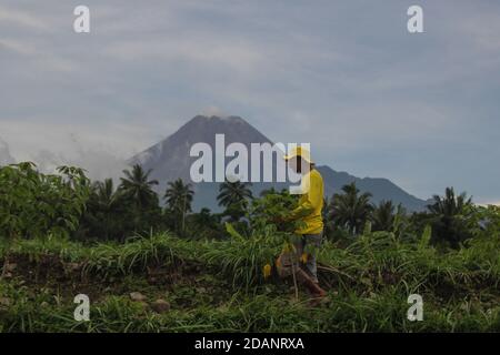
[[[467,193],[454,194],[453,187],[447,187],[444,196],[433,195],[433,203],[427,209],[432,216],[432,231],[439,240],[449,242],[457,246],[463,240],[470,237],[464,226],[464,216],[468,207],[472,205],[472,197],[467,197]]]

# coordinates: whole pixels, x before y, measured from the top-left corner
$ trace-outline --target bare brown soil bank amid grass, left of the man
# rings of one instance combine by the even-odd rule
[[[219,287],[219,281],[207,275],[207,270],[198,262],[181,262],[174,267],[151,264],[142,272],[133,270],[130,274],[122,275],[88,272],[84,263],[64,262],[54,255],[33,258],[12,254],[9,263],[16,266],[8,280],[16,280],[33,292],[48,292],[62,300],[72,300],[82,293],[93,302],[99,302],[111,295],[129,295],[138,287],[144,287],[156,296],[179,293],[174,296],[179,301],[178,305],[189,306],[193,302],[216,301],[216,296],[212,296],[214,294],[223,298],[228,294],[221,292],[223,288]],[[213,291],[214,287],[218,290]],[[226,287],[224,291],[227,290]]]

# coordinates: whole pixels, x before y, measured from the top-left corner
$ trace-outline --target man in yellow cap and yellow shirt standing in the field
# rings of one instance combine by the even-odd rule
[[[323,234],[323,179],[314,169],[310,152],[302,146],[293,149],[289,155],[284,155],[284,160],[290,169],[302,175],[299,205],[286,219],[290,222],[298,221],[300,225],[296,231],[299,240],[294,243],[294,257],[304,264],[306,273],[299,268],[296,275],[316,297],[324,297],[327,293],[319,286],[316,262]]]

